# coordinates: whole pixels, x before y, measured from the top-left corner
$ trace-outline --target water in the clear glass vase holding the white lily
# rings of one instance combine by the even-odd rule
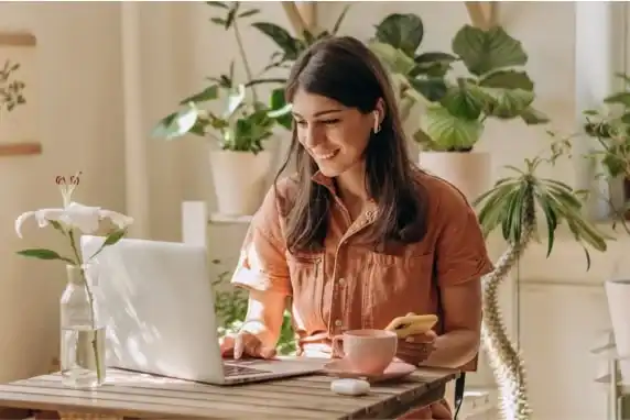
[[[93,388],[105,380],[105,327],[62,328],[61,369],[63,384]]]

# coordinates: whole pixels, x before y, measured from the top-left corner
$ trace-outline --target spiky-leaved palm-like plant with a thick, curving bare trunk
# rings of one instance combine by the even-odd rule
[[[526,246],[539,236],[536,221],[544,221],[547,257],[554,246],[558,226],[566,224],[573,239],[584,247],[586,268],[590,267],[589,248],[607,250],[604,235],[583,215],[585,191],[573,190],[555,179],[543,178],[537,169],[543,164],[555,164],[558,157],[571,152],[567,139],[554,140],[548,157],[525,159],[525,168],[509,167],[514,175],[499,179],[495,187],[475,200],[479,222],[487,236],[500,229],[508,243],[496,269],[482,279],[484,319],[482,346],[488,353],[496,383],[499,387],[503,419],[529,420],[532,418],[526,391],[524,363],[508,335],[499,308],[499,287],[518,263]],[[542,218],[537,213],[542,211]]]

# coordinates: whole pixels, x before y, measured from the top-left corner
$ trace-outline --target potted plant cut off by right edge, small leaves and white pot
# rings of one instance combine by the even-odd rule
[[[618,74],[617,77],[630,85],[627,75]],[[586,157],[601,169],[596,173],[596,177],[608,181],[610,190],[620,187],[620,199],[616,200],[612,195],[604,199],[608,205],[609,215],[612,217],[612,228],[620,222],[624,232],[630,234],[627,224],[630,219],[630,92],[613,92],[604,99],[604,106],[605,109],[584,111],[584,131],[595,143],[586,153]],[[610,277],[605,281],[605,290],[617,353],[627,357],[630,355],[630,263],[626,250],[615,256]],[[622,361],[620,366],[622,380],[630,380],[630,363]]]

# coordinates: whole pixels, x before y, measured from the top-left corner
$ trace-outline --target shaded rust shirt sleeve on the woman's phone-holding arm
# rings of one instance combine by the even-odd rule
[[[441,200],[437,237],[437,283],[456,286],[479,279],[495,267],[475,211],[456,189]]]

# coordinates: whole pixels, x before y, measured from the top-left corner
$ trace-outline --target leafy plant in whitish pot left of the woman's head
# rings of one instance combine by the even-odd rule
[[[249,215],[260,206],[273,163],[273,156],[264,144],[272,137],[275,126],[291,126],[291,107],[284,101],[282,88],[272,90],[269,103],[259,101],[257,86],[283,81],[254,78],[245,52],[239,24],[259,11],[242,10],[240,2],[206,3],[225,12],[210,21],[226,31],[232,31],[247,75],[246,81],[235,80],[232,62],[227,74],[209,78],[209,86],[180,101],[181,109],[164,117],[154,128],[153,136],[172,140],[195,134],[213,139],[218,145],[209,153],[218,211]],[[217,100],[221,101],[224,108],[220,113],[208,107]]]

